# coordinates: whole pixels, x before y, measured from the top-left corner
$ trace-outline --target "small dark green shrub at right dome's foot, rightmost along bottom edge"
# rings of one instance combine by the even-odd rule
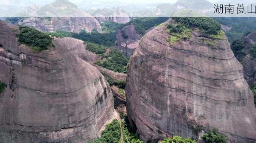
[[[202,137],[205,143],[226,143],[226,136],[223,134],[219,134],[217,129],[213,129],[213,132],[209,131],[205,133]]]

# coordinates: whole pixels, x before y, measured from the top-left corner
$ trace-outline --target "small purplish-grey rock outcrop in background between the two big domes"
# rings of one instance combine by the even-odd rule
[[[122,30],[117,31],[116,38],[117,48],[130,58],[139,45],[141,35],[136,33],[134,25],[127,25]]]

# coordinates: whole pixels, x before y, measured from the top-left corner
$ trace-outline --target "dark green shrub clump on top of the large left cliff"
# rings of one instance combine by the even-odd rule
[[[47,50],[52,43],[52,38],[35,28],[20,27],[20,33],[17,34],[18,42],[31,46],[35,52]]]

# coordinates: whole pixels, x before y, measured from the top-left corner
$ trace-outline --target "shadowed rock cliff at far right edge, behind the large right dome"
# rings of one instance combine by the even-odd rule
[[[256,59],[250,56],[249,50],[252,45],[256,44],[256,31],[244,36],[243,42],[245,45],[244,51],[247,55],[241,61],[241,64],[244,67],[244,78],[252,87],[256,84]]]

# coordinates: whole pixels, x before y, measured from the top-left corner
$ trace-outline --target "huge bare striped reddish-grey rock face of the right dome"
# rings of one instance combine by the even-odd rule
[[[253,93],[227,38],[208,46],[206,35],[193,31],[170,45],[165,26],[143,36],[127,75],[128,118],[141,139],[197,138],[201,129],[217,128],[230,143],[254,143]]]

